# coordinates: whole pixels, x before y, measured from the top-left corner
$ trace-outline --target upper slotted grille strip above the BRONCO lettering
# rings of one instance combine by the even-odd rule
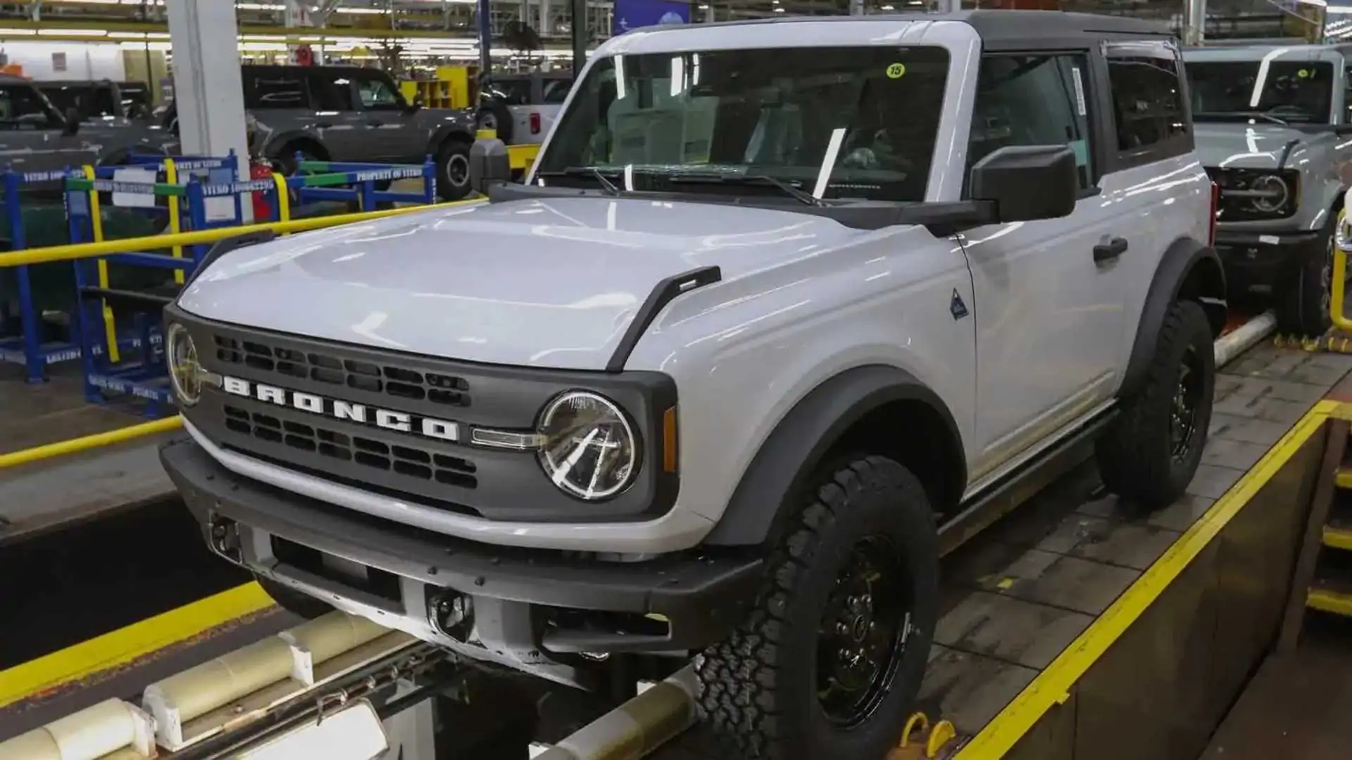
[[[338,358],[220,334],[212,339],[219,361],[258,372],[450,407],[468,407],[470,400],[469,381],[454,375]]]

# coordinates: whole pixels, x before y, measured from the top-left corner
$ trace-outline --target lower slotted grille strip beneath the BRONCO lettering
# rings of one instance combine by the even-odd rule
[[[404,477],[435,481],[460,488],[476,488],[475,462],[426,449],[388,444],[364,435],[349,435],[318,425],[283,419],[237,406],[224,406],[226,427],[269,444],[318,453]]]

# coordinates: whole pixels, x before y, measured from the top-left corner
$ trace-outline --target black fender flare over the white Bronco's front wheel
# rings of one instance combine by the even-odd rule
[[[967,485],[967,458],[963,438],[942,399],[914,375],[890,365],[846,369],[803,396],[761,444],[714,530],[707,545],[749,546],[771,540],[781,522],[783,504],[814,475],[830,448],[852,425],[883,404],[899,400],[929,406],[944,421],[953,454],[955,499]],[[790,475],[791,473],[791,475]]]

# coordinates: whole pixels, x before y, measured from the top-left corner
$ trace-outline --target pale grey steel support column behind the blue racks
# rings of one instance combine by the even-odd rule
[[[169,0],[173,92],[185,156],[239,157],[249,179],[245,96],[239,76],[239,26],[234,3]],[[246,220],[253,204],[242,204]]]

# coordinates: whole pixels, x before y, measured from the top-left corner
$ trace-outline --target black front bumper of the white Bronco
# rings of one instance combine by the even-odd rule
[[[493,546],[241,477],[189,438],[165,444],[160,458],[208,545],[231,561],[410,621],[429,621],[433,607],[452,596],[473,600],[476,610],[529,609],[533,644],[552,652],[658,652],[717,642],[741,619],[764,565],[750,556],[676,553],[606,563]],[[369,576],[360,581],[330,572],[322,556],[365,567]],[[667,625],[661,633],[617,630],[615,615],[660,615]]]

